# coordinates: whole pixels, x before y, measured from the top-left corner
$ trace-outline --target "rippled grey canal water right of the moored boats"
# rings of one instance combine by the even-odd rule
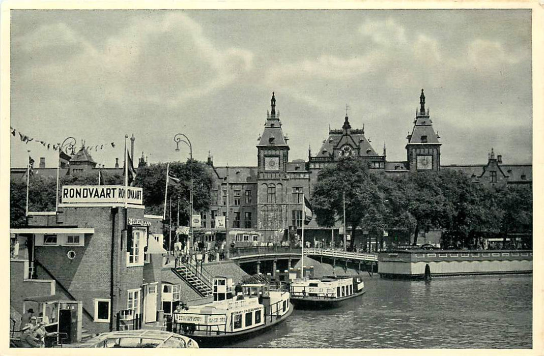
[[[332,310],[294,310],[229,347],[531,348],[532,275],[364,278],[366,294]]]

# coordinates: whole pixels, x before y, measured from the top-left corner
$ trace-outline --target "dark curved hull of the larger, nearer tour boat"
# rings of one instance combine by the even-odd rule
[[[231,345],[232,343],[235,343],[238,341],[250,339],[250,338],[253,338],[255,335],[264,333],[268,329],[286,320],[287,317],[291,315],[292,313],[293,313],[293,304],[289,303],[289,309],[287,310],[287,313],[282,315],[280,318],[277,318],[276,320],[272,322],[269,322],[267,324],[264,324],[252,329],[242,330],[240,332],[234,332],[234,333],[228,333],[228,334],[218,334],[218,335],[199,334],[199,332],[195,332],[193,334],[178,332],[178,334],[188,336],[189,338],[195,340],[196,342],[199,343],[200,348],[222,347],[225,345]]]

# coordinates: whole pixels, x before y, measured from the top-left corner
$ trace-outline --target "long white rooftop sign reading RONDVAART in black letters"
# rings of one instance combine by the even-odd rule
[[[125,203],[125,199],[130,204],[143,204],[142,189],[123,185],[63,185],[61,191],[63,203]]]

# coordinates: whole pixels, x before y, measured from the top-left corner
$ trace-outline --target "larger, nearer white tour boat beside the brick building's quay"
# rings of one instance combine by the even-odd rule
[[[172,331],[218,347],[250,338],[292,312],[289,292],[270,290],[267,283],[242,284],[234,293],[232,278],[213,278],[213,302],[186,307],[172,315]]]

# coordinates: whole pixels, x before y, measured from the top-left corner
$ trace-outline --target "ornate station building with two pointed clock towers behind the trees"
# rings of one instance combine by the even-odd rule
[[[440,136],[432,126],[429,109],[425,108],[425,95],[422,90],[412,132],[407,136],[405,161],[388,161],[385,147],[381,154],[376,152],[365,136],[364,127],[352,128],[348,116],[345,116],[341,128],[329,130],[329,137],[323,141],[319,151],[312,153],[308,150],[306,161],[289,161],[288,139],[283,134],[273,93],[266,124],[256,147],[256,166],[214,166],[211,155],[208,155],[207,165],[214,178],[212,206],[209,211],[201,212],[201,226],[195,228],[195,236],[206,241],[217,241],[225,239],[228,234],[228,241],[234,240],[243,246],[254,240],[279,243],[287,239],[289,231],[291,235],[300,235],[303,194],[306,197],[311,196],[320,170],[348,156],[367,162],[372,171],[383,171],[386,174],[449,169],[465,172],[475,184],[532,182],[531,164],[505,164],[502,155],[495,155],[493,150],[488,153],[485,164],[441,165],[441,145]],[[134,157],[134,137],[131,151]],[[96,162],[85,147],[71,159],[65,157],[63,162],[63,174],[70,170],[73,173],[83,170],[98,171]],[[145,164],[142,156],[139,165]],[[118,161],[115,168],[100,169],[119,170],[122,174]],[[24,171],[24,168],[12,169],[13,174],[21,176]],[[34,173],[52,175],[56,171],[55,168],[45,168],[45,162],[41,160],[40,167],[36,167]],[[225,216],[226,227],[217,223],[217,217],[221,216]],[[318,226],[314,219],[305,229],[306,238],[312,242],[314,239],[324,240],[326,243],[331,238],[335,241],[343,240],[338,236],[342,230],[340,223],[332,229],[324,228]],[[364,229],[361,229],[356,234],[357,245],[364,233]],[[422,241],[428,240],[422,235]]]

